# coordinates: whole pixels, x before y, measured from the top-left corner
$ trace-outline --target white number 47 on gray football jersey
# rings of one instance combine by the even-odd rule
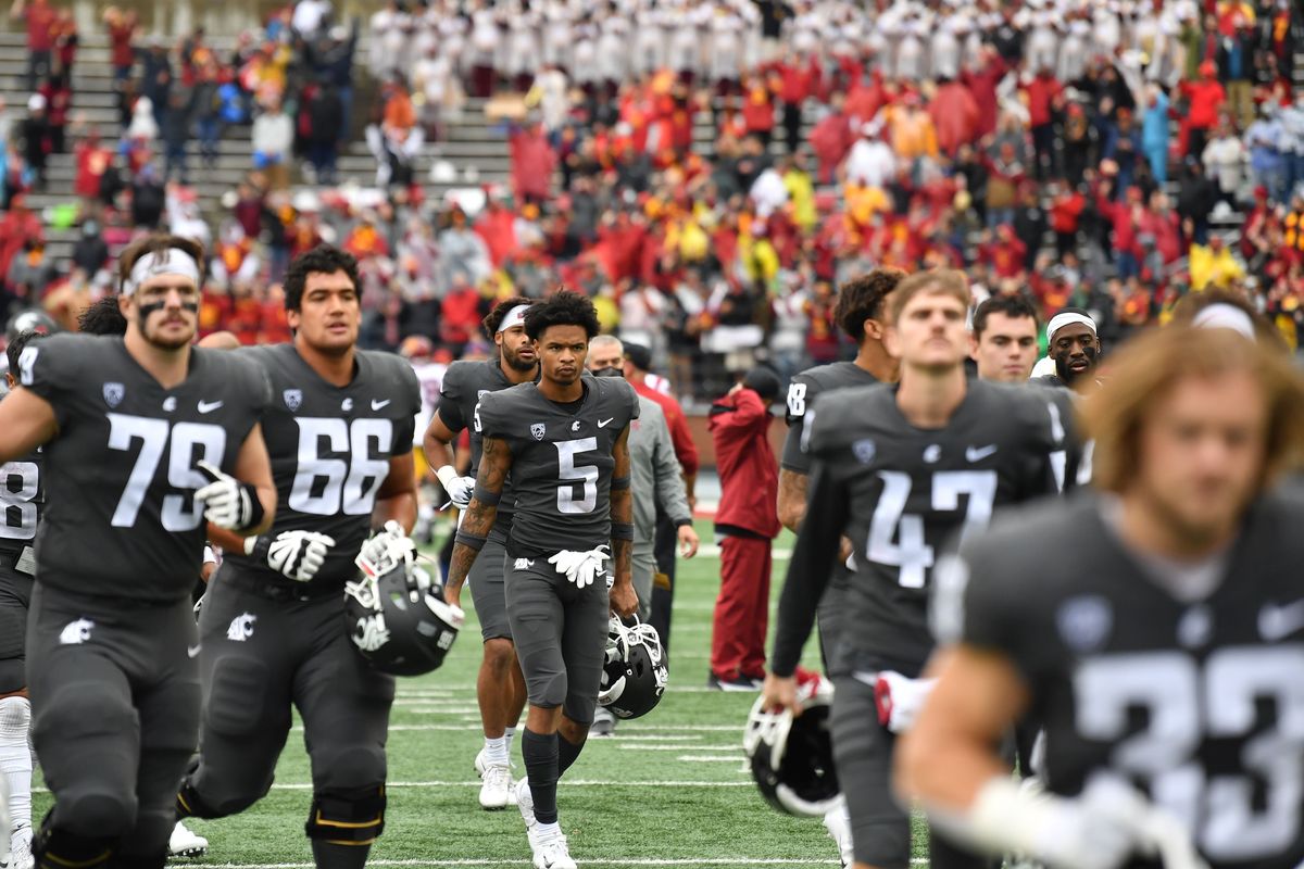
[[[870,545],[866,555],[876,564],[901,568],[898,582],[906,589],[922,589],[928,580],[934,551],[925,537],[923,516],[906,513],[910,500],[910,474],[880,470],[883,492],[870,522]],[[939,470],[932,476],[934,511],[960,508],[960,496],[969,495],[965,509],[965,533],[983,528],[991,520],[996,500],[995,470]],[[895,541],[895,542],[893,542]]]

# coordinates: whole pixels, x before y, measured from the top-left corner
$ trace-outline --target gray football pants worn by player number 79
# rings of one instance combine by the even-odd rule
[[[194,642],[189,597],[146,606],[35,586],[27,688],[55,796],[47,826],[120,839],[124,862],[162,860],[198,737]]]

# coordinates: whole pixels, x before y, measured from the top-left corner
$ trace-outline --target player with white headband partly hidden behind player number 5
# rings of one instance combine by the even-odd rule
[[[472,425],[476,405],[489,392],[528,383],[539,377],[539,356],[526,335],[526,311],[533,302],[512,296],[497,305],[484,319],[485,334],[498,348],[498,356],[484,361],[454,362],[443,377],[438,408],[425,430],[426,460],[436,468],[454,507],[466,511],[476,481],[462,477],[452,468],[450,444],[458,433],[471,429],[471,466],[480,466],[482,435]],[[526,707],[526,679],[520,675],[516,649],[511,645],[507,624],[507,598],[503,594],[503,546],[511,529],[512,498],[510,485],[503,486],[498,517],[484,548],[472,567],[468,581],[471,597],[480,619],[484,655],[476,679],[480,700],[480,722],[485,744],[476,754],[475,767],[484,779],[480,805],[501,809],[511,803],[511,737]]]

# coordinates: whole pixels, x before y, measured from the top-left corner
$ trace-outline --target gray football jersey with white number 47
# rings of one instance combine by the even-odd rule
[[[970,380],[947,427],[923,430],[906,422],[896,390],[840,390],[807,414],[810,512],[789,572],[827,575],[838,537],[850,538],[857,629],[837,649],[838,672],[917,676],[934,646],[927,594],[943,547],[1004,504],[1058,491],[1051,453],[1063,433],[1043,391]],[[792,645],[785,625],[776,649],[786,659]]]

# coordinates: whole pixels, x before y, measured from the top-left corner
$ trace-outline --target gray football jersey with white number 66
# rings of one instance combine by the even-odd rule
[[[310,530],[335,539],[312,585],[339,585],[357,575],[353,559],[372,529],[376,492],[390,459],[412,449],[421,391],[402,357],[357,350],[348,386],[323,380],[293,344],[235,350],[271,383],[262,436],[276,482],[276,521],[269,534]],[[227,555],[243,571],[286,581],[265,563]],[[296,588],[299,584],[295,584]]]

